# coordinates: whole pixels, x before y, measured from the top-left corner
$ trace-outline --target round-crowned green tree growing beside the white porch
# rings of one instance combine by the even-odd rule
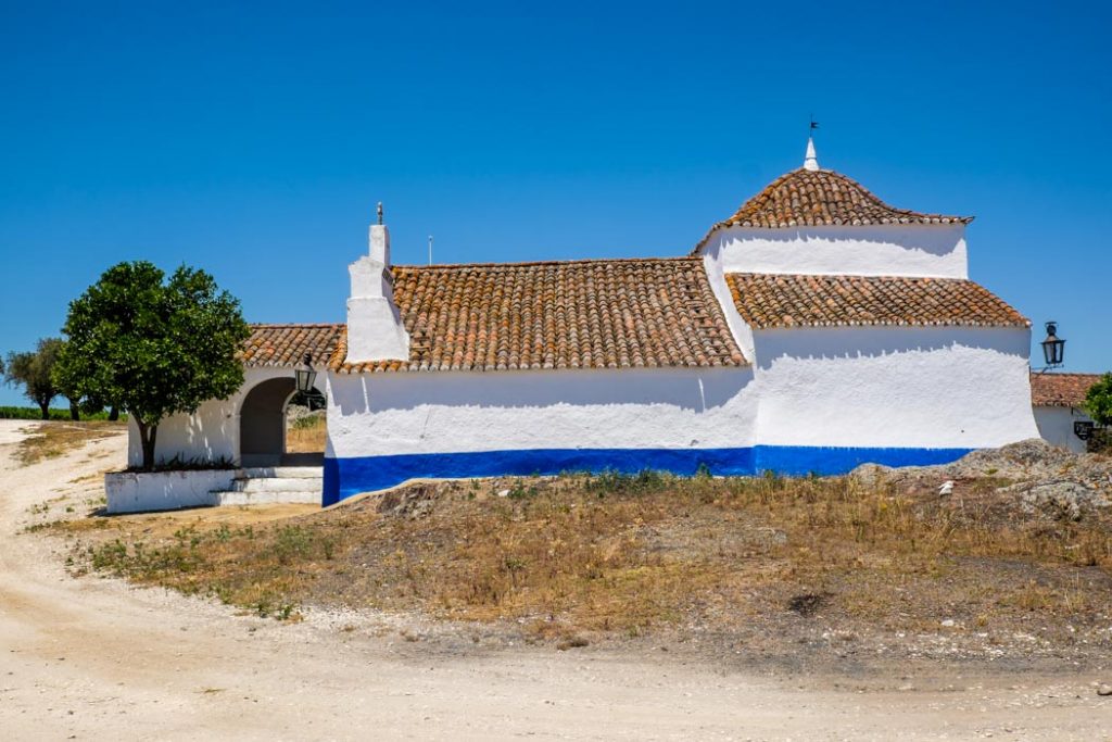
[[[167,279],[143,260],[113,266],[70,304],[63,332],[56,378],[131,416],[148,472],[163,418],[244,384],[236,353],[250,330],[239,301],[203,270],[182,266]]]

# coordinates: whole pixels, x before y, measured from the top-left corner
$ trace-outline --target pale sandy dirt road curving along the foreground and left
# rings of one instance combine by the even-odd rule
[[[954,674],[951,690],[855,691],[852,680],[834,690],[836,679],[773,681],[594,647],[447,652],[75,578],[58,541],[20,531],[31,506],[98,496],[91,475],[122,463],[123,437],[19,467],[23,427],[0,421],[3,740],[1093,740],[1112,730],[1112,701],[1092,677]]]

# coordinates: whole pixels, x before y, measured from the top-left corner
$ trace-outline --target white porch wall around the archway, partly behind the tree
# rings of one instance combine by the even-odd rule
[[[192,415],[173,415],[158,426],[155,457],[167,462],[175,456],[182,461],[219,461],[239,463],[239,410],[244,397],[255,385],[270,378],[292,378],[291,368],[249,366],[244,370],[244,386],[228,399],[210,399]],[[324,389],[324,373],[317,377]],[[139,428],[128,419],[128,466],[142,464]]]

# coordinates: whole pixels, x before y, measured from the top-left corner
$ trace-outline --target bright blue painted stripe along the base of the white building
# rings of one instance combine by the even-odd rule
[[[773,471],[787,475],[845,474],[864,463],[886,466],[945,464],[971,448],[838,448],[754,446],[746,448],[532,448],[455,454],[399,454],[325,458],[322,504],[363,492],[386,489],[415,478],[528,476],[560,472],[651,468],[691,476],[706,465],[719,476]]]

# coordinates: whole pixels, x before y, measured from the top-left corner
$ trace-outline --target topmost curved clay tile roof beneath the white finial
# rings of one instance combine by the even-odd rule
[[[856,180],[833,170],[792,170],[745,201],[719,227],[825,227],[894,224],[969,224],[973,217],[921,214],[888,206]]]

